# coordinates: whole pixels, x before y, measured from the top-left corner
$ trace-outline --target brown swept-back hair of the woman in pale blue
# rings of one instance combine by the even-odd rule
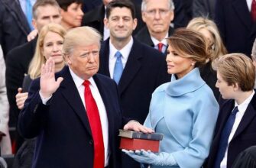
[[[179,55],[195,60],[196,66],[203,66],[210,57],[206,38],[196,31],[178,28],[167,41]]]

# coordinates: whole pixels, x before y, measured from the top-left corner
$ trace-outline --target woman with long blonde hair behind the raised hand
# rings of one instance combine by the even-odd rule
[[[49,57],[53,57],[55,61],[55,71],[58,72],[64,66],[62,45],[65,29],[60,24],[47,24],[44,26],[38,36],[37,46],[34,57],[28,67],[28,76],[25,76],[23,89],[18,89],[16,95],[16,103],[19,109],[23,108],[25,100],[28,98],[28,86],[32,79],[40,76],[41,66],[46,63]],[[21,93],[23,90],[23,93]]]

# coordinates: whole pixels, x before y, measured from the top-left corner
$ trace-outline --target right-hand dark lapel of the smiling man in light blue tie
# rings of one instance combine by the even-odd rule
[[[118,83],[118,91],[120,95],[122,95],[122,92],[124,92],[125,89],[129,86],[130,82],[132,81],[132,79],[134,79],[134,76],[141,68],[142,56],[138,47],[139,45],[140,44],[138,43],[138,41],[134,39],[134,44],[131,47],[131,52],[129,53],[125,69]]]

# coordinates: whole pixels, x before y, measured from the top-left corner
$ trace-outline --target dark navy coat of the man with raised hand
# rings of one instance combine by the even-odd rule
[[[40,79],[31,83],[28,99],[19,115],[18,130],[26,137],[37,137],[32,167],[84,168],[93,166],[93,141],[89,119],[66,66],[56,77],[63,77],[60,88],[44,105],[39,95]],[[93,76],[105,105],[109,121],[109,167],[119,168],[118,129],[126,123],[115,81]]]

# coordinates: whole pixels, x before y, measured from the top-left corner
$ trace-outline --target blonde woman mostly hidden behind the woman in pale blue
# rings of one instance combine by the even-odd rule
[[[207,85],[212,89],[215,98],[219,99],[219,90],[215,88],[215,82],[217,81],[216,73],[212,69],[212,63],[222,55],[227,53],[225,46],[222,42],[222,38],[219,34],[216,24],[208,18],[193,18],[186,28],[193,31],[198,31],[206,37],[209,45],[209,53],[211,57],[206,60],[206,66],[200,68],[202,78],[206,81]]]

